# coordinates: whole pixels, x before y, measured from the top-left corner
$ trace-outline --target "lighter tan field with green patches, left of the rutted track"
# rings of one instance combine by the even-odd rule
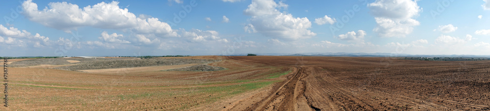
[[[15,91],[9,92],[7,110],[190,110],[275,81],[254,81],[271,68],[234,60],[211,64],[227,67],[220,71],[162,71],[195,65],[82,71],[50,68],[56,65],[12,67],[9,88]]]

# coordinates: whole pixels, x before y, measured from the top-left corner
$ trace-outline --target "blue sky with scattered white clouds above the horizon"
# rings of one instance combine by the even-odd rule
[[[0,56],[490,55],[490,0],[1,0]]]

